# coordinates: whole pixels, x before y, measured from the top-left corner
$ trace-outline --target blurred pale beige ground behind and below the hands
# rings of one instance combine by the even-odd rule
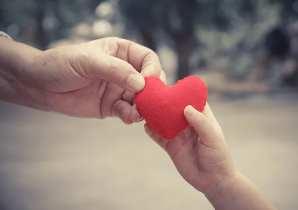
[[[283,210],[298,209],[298,97],[209,103],[237,168]],[[213,210],[143,123],[76,119],[0,104],[1,210]]]

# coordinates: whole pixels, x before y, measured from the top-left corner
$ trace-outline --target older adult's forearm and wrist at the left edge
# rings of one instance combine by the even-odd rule
[[[34,107],[28,71],[40,51],[0,37],[0,100]]]

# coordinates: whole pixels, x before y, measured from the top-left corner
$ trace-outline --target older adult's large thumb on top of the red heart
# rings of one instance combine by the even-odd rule
[[[108,54],[92,58],[90,73],[92,77],[105,79],[133,93],[145,87],[144,77],[128,62]]]

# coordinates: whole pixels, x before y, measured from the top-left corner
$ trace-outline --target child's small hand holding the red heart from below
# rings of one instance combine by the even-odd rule
[[[213,184],[236,174],[223,131],[207,104],[201,113],[187,106],[184,115],[190,123],[173,140],[164,140],[145,124],[146,133],[174,162],[180,175],[195,189],[204,192]]]

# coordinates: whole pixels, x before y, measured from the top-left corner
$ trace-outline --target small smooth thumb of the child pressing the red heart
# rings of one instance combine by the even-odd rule
[[[204,145],[213,149],[221,147],[222,136],[207,116],[191,105],[185,108],[184,115],[189,124],[198,132]]]

